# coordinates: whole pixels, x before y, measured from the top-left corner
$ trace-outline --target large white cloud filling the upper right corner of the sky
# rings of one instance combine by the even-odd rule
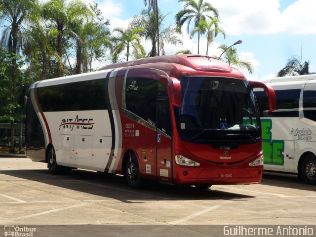
[[[208,0],[228,35],[316,34],[316,1],[297,0],[280,12],[280,0]]]

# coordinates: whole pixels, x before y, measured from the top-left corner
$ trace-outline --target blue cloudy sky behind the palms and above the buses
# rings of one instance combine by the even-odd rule
[[[86,2],[89,0],[85,0]],[[145,8],[144,0],[96,0],[110,29],[128,26],[131,18]],[[220,44],[232,45],[237,40],[239,59],[252,63],[254,72],[247,79],[262,80],[276,76],[291,56],[310,61],[310,72],[316,72],[316,1],[315,0],[205,0],[217,8],[220,26],[226,31],[226,39],[215,38],[209,48],[209,56],[219,56]],[[175,14],[183,9],[178,0],[158,0],[163,14],[168,14],[164,27],[175,23]],[[193,25],[193,22],[191,23]],[[165,45],[167,55],[180,49],[197,53],[197,37],[190,40],[187,26],[182,28],[183,46]],[[191,29],[191,28],[190,28]],[[149,41],[143,41],[149,52]],[[206,38],[201,36],[199,53],[206,53]]]

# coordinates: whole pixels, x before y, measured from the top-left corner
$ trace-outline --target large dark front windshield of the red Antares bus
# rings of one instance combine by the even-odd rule
[[[251,144],[260,141],[258,108],[248,81],[220,77],[180,78],[181,107],[175,107],[183,141]]]

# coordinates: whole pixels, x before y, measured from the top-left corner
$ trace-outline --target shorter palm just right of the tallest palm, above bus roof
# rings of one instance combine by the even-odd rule
[[[198,32],[202,35],[206,34],[206,55],[208,55],[208,46],[214,41],[214,38],[217,37],[218,34],[222,34],[224,39],[226,38],[226,32],[219,27],[218,23],[220,23],[220,20],[215,18],[211,19],[209,22],[201,20],[197,24],[197,27],[191,32],[191,39]]]

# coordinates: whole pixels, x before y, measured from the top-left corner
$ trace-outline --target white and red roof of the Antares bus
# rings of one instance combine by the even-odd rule
[[[101,67],[96,72],[83,73],[78,75],[71,75],[61,78],[46,79],[35,82],[31,88],[37,84],[37,87],[50,86],[56,84],[70,83],[74,81],[97,79],[105,72],[113,71],[113,69],[124,70],[127,68],[152,68],[158,69],[170,77],[182,77],[188,75],[190,71],[191,76],[210,75],[217,77],[230,77],[245,79],[243,74],[228,65],[225,61],[197,54],[180,54],[180,55],[164,55],[150,58],[143,58],[122,63],[115,63]]]

